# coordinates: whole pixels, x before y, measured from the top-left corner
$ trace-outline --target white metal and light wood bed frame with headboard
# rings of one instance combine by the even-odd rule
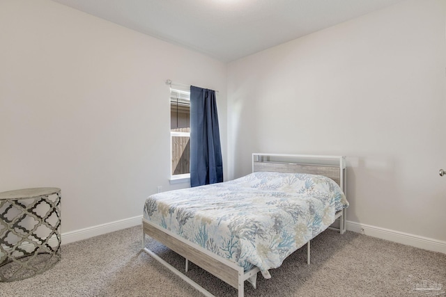
[[[288,173],[309,173],[315,175],[324,175],[330,177],[337,182],[341,190],[346,193],[346,162],[344,156],[316,156],[316,155],[300,155],[300,154],[252,154],[252,172],[258,171],[275,171]],[[329,227],[330,229],[339,230],[341,234],[346,231],[346,209],[338,211],[336,218],[339,219],[339,228]],[[183,239],[182,237],[169,232],[158,225],[151,223],[143,218],[143,236],[142,249],[151,255],[158,262],[169,268],[170,271],[192,285],[195,289],[200,291],[204,296],[213,296],[206,289],[188,278],[184,273],[165,262],[158,257],[155,252],[146,248],[146,236],[150,236],[156,241],[162,243],[167,248],[185,257],[185,272],[188,270],[189,261],[192,261],[197,266],[212,273],[220,280],[238,290],[238,297],[243,297],[245,294],[245,280],[249,280],[254,287],[256,284],[257,273],[259,268],[254,267],[245,272],[243,267],[236,263],[229,261],[213,252],[202,248],[192,241]],[[310,260],[310,242],[307,242],[307,263]]]

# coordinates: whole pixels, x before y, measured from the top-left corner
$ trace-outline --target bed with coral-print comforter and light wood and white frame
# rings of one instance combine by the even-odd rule
[[[270,278],[292,252],[328,228],[346,231],[344,156],[252,154],[252,173],[229,182],[157,193],[144,204],[143,250],[205,296],[145,246],[146,236],[238,289]],[[338,228],[333,227],[338,220]]]

